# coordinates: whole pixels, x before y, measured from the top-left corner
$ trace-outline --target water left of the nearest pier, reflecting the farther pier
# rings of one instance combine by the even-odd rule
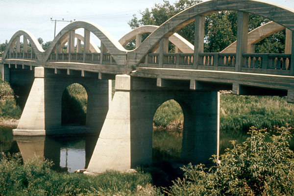
[[[98,135],[13,136],[13,128],[0,126],[0,151],[21,152],[24,161],[34,155],[49,159],[57,171],[87,168],[98,139]]]

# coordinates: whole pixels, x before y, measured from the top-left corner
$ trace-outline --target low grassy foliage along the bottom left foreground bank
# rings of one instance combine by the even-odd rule
[[[3,156],[0,161],[0,193],[4,196],[122,196],[144,195],[137,191],[147,187],[151,177],[146,173],[108,171],[89,176],[58,173],[51,163],[34,157],[22,163],[21,155]],[[150,186],[150,185],[149,185]],[[151,192],[155,192],[150,186]],[[152,195],[152,194],[149,194]]]

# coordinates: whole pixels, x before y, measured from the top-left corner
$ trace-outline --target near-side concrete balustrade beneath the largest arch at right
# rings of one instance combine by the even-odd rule
[[[164,53],[163,68],[235,71],[236,53],[200,53],[197,67],[193,66],[193,53]],[[241,72],[290,75],[291,54],[244,53]],[[160,54],[149,53],[145,64],[159,67]]]

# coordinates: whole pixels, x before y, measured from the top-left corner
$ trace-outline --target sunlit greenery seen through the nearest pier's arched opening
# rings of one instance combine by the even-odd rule
[[[169,124],[179,125],[183,121],[181,106],[173,99],[164,102],[156,111],[153,123],[155,126],[167,127]]]

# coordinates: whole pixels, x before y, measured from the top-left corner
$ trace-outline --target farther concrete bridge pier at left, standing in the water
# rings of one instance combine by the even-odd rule
[[[35,79],[14,135],[96,133],[101,130],[108,111],[108,80],[55,74],[53,69],[35,68]],[[62,94],[67,86],[80,83],[86,88],[88,107],[86,126],[68,130],[61,126]]]

